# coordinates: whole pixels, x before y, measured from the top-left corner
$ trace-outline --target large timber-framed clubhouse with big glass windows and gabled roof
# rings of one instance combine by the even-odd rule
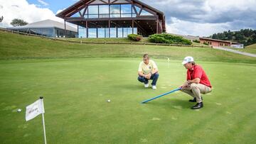
[[[77,25],[79,38],[166,32],[164,13],[137,0],[80,0],[56,16]]]

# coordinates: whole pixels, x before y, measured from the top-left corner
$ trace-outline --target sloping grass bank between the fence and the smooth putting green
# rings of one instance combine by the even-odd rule
[[[182,60],[192,55],[196,60],[256,63],[256,58],[211,48],[186,48],[156,45],[80,45],[0,31],[0,59],[48,59],[72,57],[142,57]]]

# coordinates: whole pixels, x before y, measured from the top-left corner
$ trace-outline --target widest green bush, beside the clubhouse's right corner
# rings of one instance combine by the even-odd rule
[[[168,44],[181,44],[191,45],[191,40],[182,38],[181,36],[171,35],[167,33],[149,35],[151,43],[168,43]]]

